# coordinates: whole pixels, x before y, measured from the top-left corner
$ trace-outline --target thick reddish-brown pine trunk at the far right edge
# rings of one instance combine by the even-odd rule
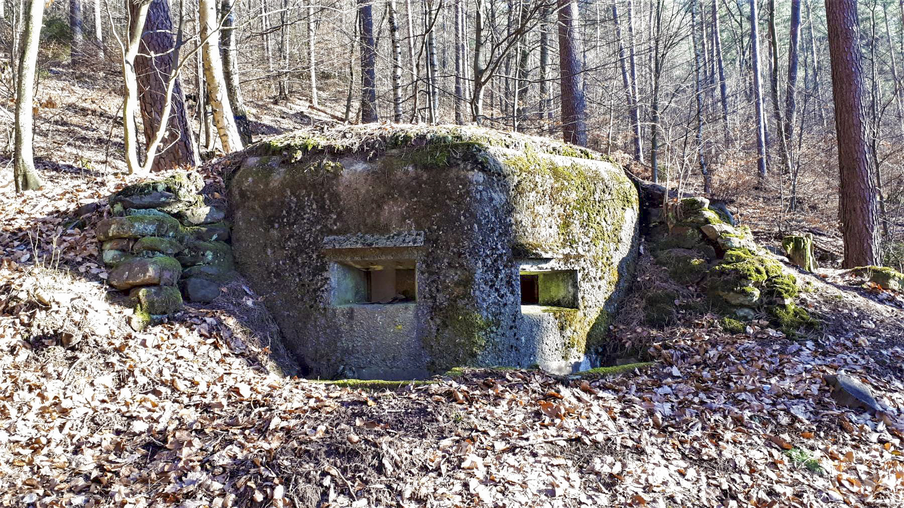
[[[866,112],[857,29],[857,0],[825,0],[832,57],[832,90],[838,166],[841,174],[839,219],[844,268],[878,265],[879,214],[876,181],[867,151]]]

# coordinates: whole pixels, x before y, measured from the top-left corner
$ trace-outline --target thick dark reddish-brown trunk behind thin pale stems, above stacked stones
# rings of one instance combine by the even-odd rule
[[[132,16],[137,16],[137,5],[129,3],[129,10]],[[141,45],[135,59],[146,147],[151,146],[154,140],[166,102],[172,101],[172,104],[166,121],[166,133],[161,139],[162,151],[154,157],[151,171],[198,165],[192,130],[185,113],[185,97],[178,79],[175,80],[172,95],[167,97],[166,93],[170,77],[178,65],[176,54],[169,3],[167,0],[154,0],[147,9]]]

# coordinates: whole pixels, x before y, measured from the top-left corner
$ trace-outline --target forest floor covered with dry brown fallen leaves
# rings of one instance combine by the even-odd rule
[[[799,276],[823,326],[795,338],[766,321],[730,334],[717,315],[655,329],[626,312],[613,343],[654,363],[608,376],[290,379],[241,281],[132,331],[92,232],[134,181],[114,89],[67,72],[42,85],[42,190],[15,194],[0,158],[0,505],[904,504],[904,297],[836,268]],[[300,109],[261,104],[261,128],[300,127]],[[743,200],[732,206],[774,242],[775,196]],[[837,239],[832,217],[830,203],[796,227]],[[653,277],[642,259],[638,287]],[[822,379],[835,372],[868,382],[888,415],[838,406]]]

